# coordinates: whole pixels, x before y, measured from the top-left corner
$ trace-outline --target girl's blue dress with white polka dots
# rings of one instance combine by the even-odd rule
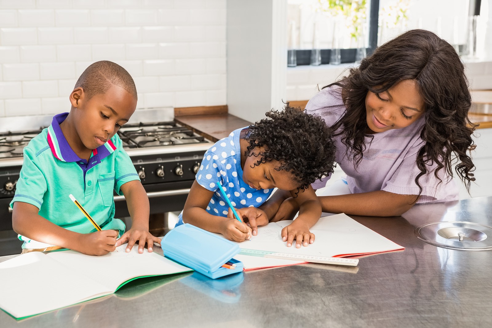
[[[200,165],[200,170],[195,176],[196,181],[205,189],[215,191],[207,212],[217,216],[227,216],[229,209],[215,182],[220,182],[232,206],[237,209],[245,207],[258,207],[263,204],[274,189],[251,188],[243,181],[243,169],[241,168],[241,146],[239,137],[240,128],[231,132],[224,139],[217,141],[205,155]],[[183,212],[179,215],[176,226],[183,224]]]

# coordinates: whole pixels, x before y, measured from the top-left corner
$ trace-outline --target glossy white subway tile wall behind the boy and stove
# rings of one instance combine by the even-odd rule
[[[226,0],[0,0],[0,117],[69,110],[92,62],[134,78],[137,110],[226,104]]]

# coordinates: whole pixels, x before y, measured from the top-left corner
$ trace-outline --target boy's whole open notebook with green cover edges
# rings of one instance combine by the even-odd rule
[[[126,244],[103,256],[73,250],[31,252],[0,263],[0,308],[23,319],[115,293],[136,278],[192,271]]]

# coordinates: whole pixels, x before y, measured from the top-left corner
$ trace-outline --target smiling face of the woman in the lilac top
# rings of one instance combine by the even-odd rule
[[[401,129],[424,115],[425,103],[414,80],[403,80],[387,91],[368,92],[366,113],[368,133]]]

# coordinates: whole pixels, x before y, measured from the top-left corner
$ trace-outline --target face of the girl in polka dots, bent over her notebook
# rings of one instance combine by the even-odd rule
[[[285,170],[277,171],[280,166],[278,161],[262,163],[257,166],[253,164],[260,159],[256,156],[248,156],[243,168],[243,180],[254,189],[272,189],[294,190],[299,187],[295,176]]]

